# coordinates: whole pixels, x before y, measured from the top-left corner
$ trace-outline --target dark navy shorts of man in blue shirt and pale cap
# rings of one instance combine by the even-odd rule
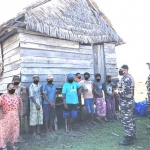
[[[55,107],[50,107],[50,104],[43,105],[44,121],[54,121],[56,116]]]

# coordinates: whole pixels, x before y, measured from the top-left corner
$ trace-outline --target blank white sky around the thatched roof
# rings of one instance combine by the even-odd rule
[[[37,0],[0,0],[0,24]],[[94,0],[126,44],[116,47],[118,67],[129,66],[136,81],[145,81],[150,62],[150,1]]]

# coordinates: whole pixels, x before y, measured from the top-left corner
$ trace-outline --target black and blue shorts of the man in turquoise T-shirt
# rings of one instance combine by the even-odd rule
[[[63,118],[76,118],[78,116],[77,113],[77,104],[67,104],[68,109],[63,110]]]

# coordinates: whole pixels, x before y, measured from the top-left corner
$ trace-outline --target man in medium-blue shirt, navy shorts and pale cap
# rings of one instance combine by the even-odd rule
[[[56,86],[53,84],[53,76],[47,76],[47,84],[43,86],[44,94],[44,121],[46,133],[52,131],[53,122],[55,119],[55,100],[56,100]]]

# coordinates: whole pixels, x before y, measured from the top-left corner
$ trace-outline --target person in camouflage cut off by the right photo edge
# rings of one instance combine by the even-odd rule
[[[147,113],[150,119],[150,75],[147,78],[146,87],[147,87]],[[148,126],[148,128],[150,128],[150,126]]]

